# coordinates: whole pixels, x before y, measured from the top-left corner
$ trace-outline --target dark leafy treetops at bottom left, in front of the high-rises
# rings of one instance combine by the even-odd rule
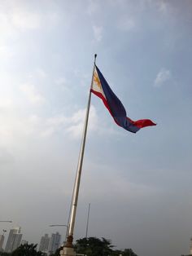
[[[37,245],[34,244],[24,244],[20,245],[17,249],[15,249],[11,256],[44,256],[42,252],[37,252]]]

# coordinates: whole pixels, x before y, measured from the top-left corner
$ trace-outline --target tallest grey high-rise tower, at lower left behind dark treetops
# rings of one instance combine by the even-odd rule
[[[7,239],[7,245],[5,251],[11,253],[20,246],[22,234],[20,234],[20,227],[15,227],[10,230]]]

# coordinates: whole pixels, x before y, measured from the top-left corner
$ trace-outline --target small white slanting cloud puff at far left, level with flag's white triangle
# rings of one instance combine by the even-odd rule
[[[28,101],[32,104],[43,104],[46,99],[37,92],[35,86],[31,84],[24,84],[20,86],[20,90],[26,95]]]

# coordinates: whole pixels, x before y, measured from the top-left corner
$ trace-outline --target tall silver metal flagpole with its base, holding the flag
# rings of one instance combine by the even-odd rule
[[[95,68],[96,58],[97,58],[97,55],[95,54],[94,55],[94,68]],[[93,82],[94,82],[94,69],[93,69],[93,74],[92,74],[92,79],[91,79],[91,86],[92,86]],[[75,179],[74,189],[73,189],[73,194],[72,194],[72,210],[71,210],[71,214],[70,214],[70,221],[69,221],[69,227],[68,227],[68,238],[67,238],[66,244],[63,246],[63,250],[60,252],[60,255],[68,255],[68,256],[75,255],[74,250],[72,248],[72,241],[73,241],[73,232],[74,232],[75,221],[76,221],[76,207],[77,207],[80,181],[81,181],[81,170],[82,170],[83,157],[84,157],[84,151],[85,151],[87,125],[88,125],[88,120],[89,120],[90,99],[91,99],[91,91],[89,90],[89,99],[88,99],[86,116],[85,116],[83,136],[82,136],[82,141],[81,141],[81,150],[80,150],[79,161],[78,161],[77,170],[76,170],[76,179]]]

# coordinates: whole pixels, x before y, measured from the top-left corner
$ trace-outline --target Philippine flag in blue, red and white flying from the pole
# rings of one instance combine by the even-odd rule
[[[97,95],[103,100],[103,104],[105,104],[106,108],[111,113],[111,116],[116,121],[116,124],[123,127],[125,130],[136,133],[137,130],[140,130],[143,127],[156,126],[156,124],[150,119],[133,121],[127,117],[124,105],[111,90],[110,86],[107,84],[107,81],[103,77],[103,74],[96,65],[94,68],[94,78],[90,90],[94,93],[94,95]]]

